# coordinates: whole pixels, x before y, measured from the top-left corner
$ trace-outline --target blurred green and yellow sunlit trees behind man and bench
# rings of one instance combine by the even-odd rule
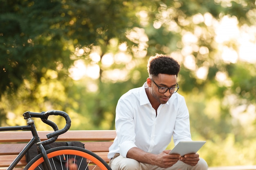
[[[256,164],[255,0],[0,0],[0,125],[67,112],[115,129],[119,97],[155,53],[181,64],[193,140],[209,166]],[[54,118],[60,126],[64,120]],[[50,130],[39,120],[38,130]],[[171,146],[170,146],[171,147]]]

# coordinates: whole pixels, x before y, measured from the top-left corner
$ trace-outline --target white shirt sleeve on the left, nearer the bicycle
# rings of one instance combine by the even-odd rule
[[[135,145],[135,122],[132,103],[126,98],[120,98],[116,107],[115,126],[120,155],[126,157],[128,150]]]

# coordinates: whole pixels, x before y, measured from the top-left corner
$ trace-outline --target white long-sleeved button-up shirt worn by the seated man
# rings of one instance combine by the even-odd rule
[[[190,141],[189,111],[184,97],[174,93],[166,104],[156,111],[150,104],[145,88],[129,90],[121,96],[116,107],[115,126],[117,137],[109,148],[108,158],[115,153],[126,157],[128,150],[140,148],[148,153],[159,154],[171,142]]]

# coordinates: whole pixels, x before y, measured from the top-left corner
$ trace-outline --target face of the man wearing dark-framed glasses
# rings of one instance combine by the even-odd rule
[[[153,81],[155,82],[153,82]],[[169,89],[165,93],[160,93],[158,91],[158,87],[175,87],[177,84],[177,76],[169,75],[169,74],[158,74],[158,77],[154,77],[152,79],[148,78],[148,87],[150,88],[150,93],[160,104],[165,104],[169,98],[171,98],[172,93],[170,93]],[[156,85],[157,84],[157,85]]]

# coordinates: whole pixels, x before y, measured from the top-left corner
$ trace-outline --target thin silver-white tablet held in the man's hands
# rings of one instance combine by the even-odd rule
[[[197,151],[205,144],[206,141],[180,141],[169,154],[186,154],[197,153]]]

